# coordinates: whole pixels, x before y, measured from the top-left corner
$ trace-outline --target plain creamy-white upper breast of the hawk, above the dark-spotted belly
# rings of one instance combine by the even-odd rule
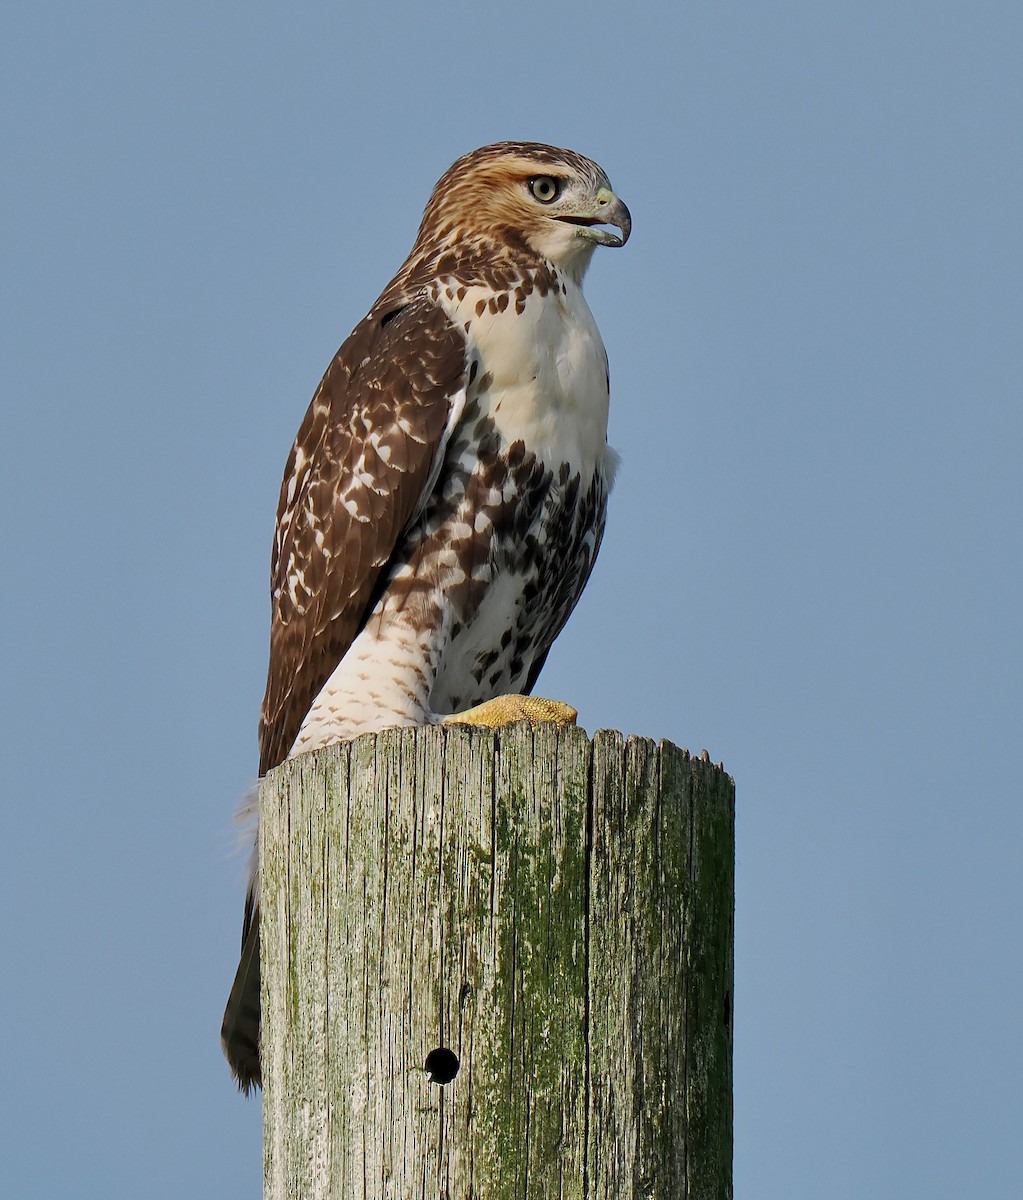
[[[564,280],[560,290],[526,296],[504,311],[485,307],[487,288],[463,298],[438,298],[466,330],[468,361],[479,361],[479,403],[507,444],[521,439],[549,467],[568,463],[586,484],[603,467],[608,443],[608,355],[582,290]]]

